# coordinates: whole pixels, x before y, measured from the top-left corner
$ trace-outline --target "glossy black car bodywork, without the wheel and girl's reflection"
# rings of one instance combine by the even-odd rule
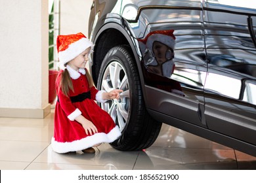
[[[256,156],[255,9],[196,0],[112,0],[94,1],[91,10],[95,81],[106,52],[127,44],[137,60],[146,107],[156,120]],[[139,39],[170,29],[176,38],[175,71],[169,77],[150,73]],[[152,77],[167,88],[179,83],[184,95],[159,87]]]

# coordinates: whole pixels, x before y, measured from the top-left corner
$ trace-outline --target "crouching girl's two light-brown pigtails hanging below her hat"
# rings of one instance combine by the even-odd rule
[[[87,69],[85,69],[85,70],[86,70],[87,80],[89,83],[89,88],[91,88],[94,86],[93,78],[89,74],[89,71],[87,71]],[[72,84],[72,79],[71,79],[70,73],[68,73],[67,69],[65,69],[61,74],[60,87],[61,87],[61,90],[64,93],[64,95],[66,95],[67,97],[70,94],[70,90],[72,90],[72,92],[74,92],[74,86]]]

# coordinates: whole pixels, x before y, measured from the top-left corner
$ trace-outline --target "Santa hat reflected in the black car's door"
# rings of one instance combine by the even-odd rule
[[[152,49],[155,41],[159,41],[170,48],[174,48],[175,36],[173,35],[173,31],[174,30],[152,31],[148,33],[144,39],[139,39],[139,41],[143,42],[149,49]]]

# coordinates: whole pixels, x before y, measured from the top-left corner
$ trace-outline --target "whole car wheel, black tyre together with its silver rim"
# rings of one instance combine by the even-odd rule
[[[129,46],[116,46],[108,51],[100,67],[97,88],[106,92],[123,90],[119,100],[99,104],[121,129],[121,137],[110,143],[112,147],[123,151],[142,150],[156,141],[161,123],[146,110],[137,64]]]

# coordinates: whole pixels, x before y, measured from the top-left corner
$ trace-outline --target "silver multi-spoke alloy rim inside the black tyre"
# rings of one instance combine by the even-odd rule
[[[123,92],[120,93],[120,98],[118,100],[112,99],[106,103],[102,103],[101,108],[110,114],[116,125],[118,125],[119,129],[122,131],[129,118],[129,81],[123,66],[117,61],[112,61],[104,71],[100,89],[110,92],[117,88],[123,90]]]

